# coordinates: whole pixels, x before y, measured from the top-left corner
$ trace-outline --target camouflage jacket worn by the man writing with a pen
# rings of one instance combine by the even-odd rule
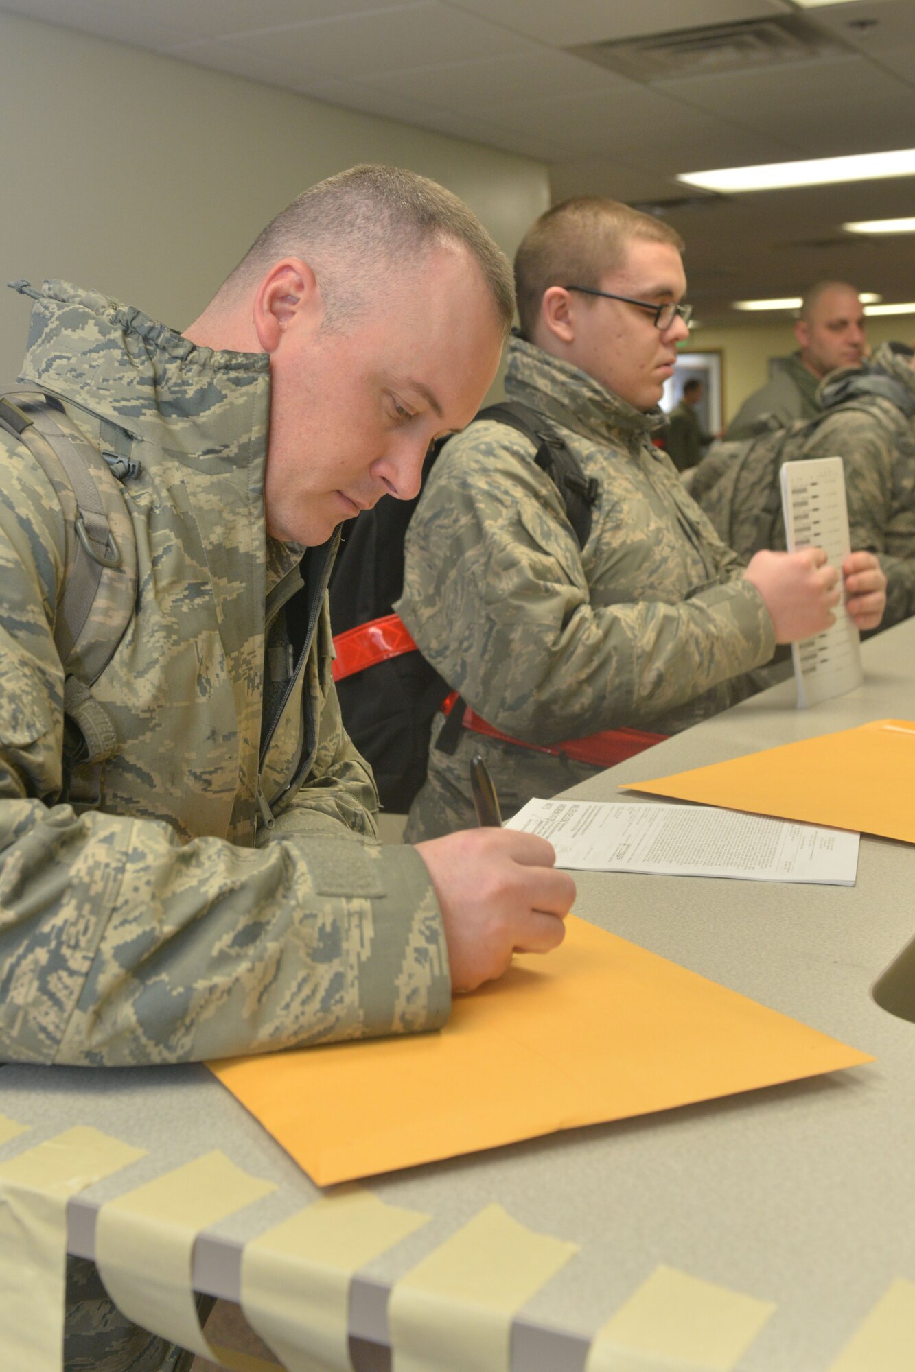
[[[92,442],[131,446],[139,594],[92,687],[117,749],[82,808],[52,638],[66,521],[3,435],[0,1058],[180,1062],[436,1028],[438,907],[419,856],[374,841],[330,678],[334,541],[301,589],[301,549],[265,535],[268,357],[45,283],[23,377]]]

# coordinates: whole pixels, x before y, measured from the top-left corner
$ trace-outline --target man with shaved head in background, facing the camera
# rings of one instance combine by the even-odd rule
[[[857,366],[867,347],[864,310],[853,285],[817,281],[804,296],[794,324],[798,351],[773,358],[765,386],[746,398],[725,439],[750,438],[760,428],[809,420],[819,414],[816,391],[839,366]]]

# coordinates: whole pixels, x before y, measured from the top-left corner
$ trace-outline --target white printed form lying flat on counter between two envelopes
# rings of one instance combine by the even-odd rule
[[[853,886],[860,834],[713,805],[529,800],[506,829],[548,838],[556,866],[659,877]]]

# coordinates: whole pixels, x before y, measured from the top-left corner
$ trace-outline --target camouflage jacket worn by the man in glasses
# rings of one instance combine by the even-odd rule
[[[414,514],[397,609],[420,650],[485,720],[555,744],[620,726],[673,733],[738,698],[775,635],[743,564],[651,443],[664,423],[522,339],[506,391],[536,409],[599,484],[578,547],[533,443],[495,421],[444,449]],[[504,809],[592,775],[587,764],[462,731],[433,746],[408,836],[473,822],[481,752]]]

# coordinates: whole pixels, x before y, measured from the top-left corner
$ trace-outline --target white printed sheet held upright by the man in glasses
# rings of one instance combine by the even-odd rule
[[[842,458],[784,462],[782,508],[789,552],[822,547],[830,565],[841,572],[842,558],[852,550]],[[791,656],[798,708],[844,696],[864,681],[860,635],[844,602],[833,627],[791,643]]]

